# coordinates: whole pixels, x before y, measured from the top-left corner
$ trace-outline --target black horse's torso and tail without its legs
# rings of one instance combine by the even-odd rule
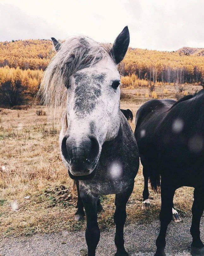
[[[175,187],[203,187],[204,90],[177,102],[143,104],[136,114],[135,138],[154,188],[160,174]]]

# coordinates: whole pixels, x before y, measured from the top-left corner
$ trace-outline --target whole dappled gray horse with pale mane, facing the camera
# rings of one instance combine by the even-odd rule
[[[95,255],[100,231],[97,200],[116,194],[115,255],[128,255],[123,227],[126,203],[139,168],[135,136],[120,111],[120,75],[117,64],[129,46],[126,26],[112,47],[76,36],[59,43],[41,85],[45,104],[55,119],[62,113],[60,149],[69,176],[79,181],[87,217],[88,255]]]

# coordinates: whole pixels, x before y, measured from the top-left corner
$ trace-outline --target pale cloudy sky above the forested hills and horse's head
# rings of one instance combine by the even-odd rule
[[[0,41],[83,34],[113,42],[128,25],[135,48],[203,48],[203,10],[203,0],[0,0]]]

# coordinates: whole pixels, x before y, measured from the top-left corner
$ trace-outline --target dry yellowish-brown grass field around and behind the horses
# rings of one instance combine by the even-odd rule
[[[194,93],[199,86],[185,85]],[[175,98],[173,86],[157,86],[158,98]],[[121,108],[135,116],[139,106],[149,100],[148,88],[122,89]],[[42,110],[42,115],[36,112]],[[135,128],[135,122],[130,123]],[[48,130],[46,109],[34,106],[27,110],[0,109],[0,233],[1,236],[29,235],[63,229],[78,230],[77,197],[72,181],[61,161],[58,145],[59,127]],[[159,216],[160,194],[150,189],[151,210],[141,211],[143,190],[142,166],[127,205],[127,223],[151,221]],[[181,216],[190,215],[193,189],[177,190],[174,203]],[[99,213],[101,229],[113,224],[114,196],[101,198],[104,211]]]

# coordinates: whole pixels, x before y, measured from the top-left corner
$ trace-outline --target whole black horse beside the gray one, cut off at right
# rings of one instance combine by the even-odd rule
[[[161,227],[155,256],[165,255],[173,197],[182,186],[195,188],[191,254],[203,256],[200,220],[204,209],[204,90],[177,102],[151,100],[143,104],[136,114],[135,138],[153,189],[161,187]]]

